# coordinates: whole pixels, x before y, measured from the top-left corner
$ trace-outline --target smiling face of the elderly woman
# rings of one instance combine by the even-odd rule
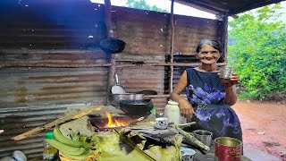
[[[221,54],[214,47],[205,45],[198,52],[197,58],[202,64],[215,64]]]

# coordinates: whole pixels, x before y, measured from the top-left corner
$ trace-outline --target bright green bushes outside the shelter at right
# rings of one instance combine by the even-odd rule
[[[281,4],[244,13],[229,23],[228,64],[240,74],[240,97],[286,96],[286,25]]]

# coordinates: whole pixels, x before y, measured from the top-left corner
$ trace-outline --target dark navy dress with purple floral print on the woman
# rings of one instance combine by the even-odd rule
[[[194,68],[186,71],[187,97],[196,112],[192,118],[197,122],[195,129],[212,131],[213,139],[225,136],[242,141],[240,120],[224,102],[225,89],[217,72],[199,72]]]

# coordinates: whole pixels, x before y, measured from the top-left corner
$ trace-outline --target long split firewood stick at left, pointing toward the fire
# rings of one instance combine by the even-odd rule
[[[34,129],[30,130],[30,131],[26,131],[26,132],[24,132],[24,133],[22,133],[20,135],[17,135],[15,137],[13,137],[12,139],[13,140],[23,140],[23,139],[25,139],[25,138],[27,138],[27,137],[29,137],[31,135],[34,135],[34,134],[36,134],[36,133],[38,133],[40,131],[45,131],[47,129],[53,128],[56,124],[67,123],[67,122],[69,122],[71,120],[78,119],[78,118],[83,117],[83,116],[85,116],[87,114],[90,114],[92,112],[99,111],[99,110],[101,110],[102,107],[103,106],[91,106],[91,107],[89,107],[87,109],[80,110],[80,112],[78,112],[76,114],[74,114],[74,113],[65,114],[65,115],[63,115],[62,118],[59,118],[59,119],[55,120],[52,123],[46,123],[43,126],[39,126],[39,127],[34,128]]]

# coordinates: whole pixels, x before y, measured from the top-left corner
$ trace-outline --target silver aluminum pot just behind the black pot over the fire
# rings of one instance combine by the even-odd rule
[[[142,99],[143,94],[137,93],[122,93],[122,94],[108,94],[107,99],[108,103],[116,108],[120,109],[120,101],[121,100],[134,100],[134,99]]]

